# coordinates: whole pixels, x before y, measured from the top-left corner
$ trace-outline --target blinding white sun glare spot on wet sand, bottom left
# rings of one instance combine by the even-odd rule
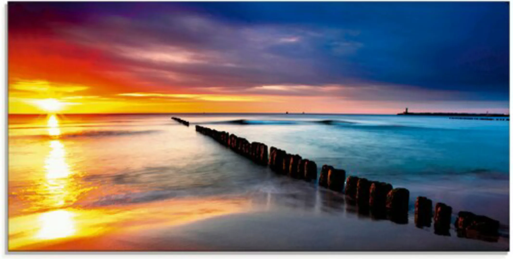
[[[40,230],[38,239],[60,239],[75,233],[74,213],[66,210],[54,210],[39,216]]]

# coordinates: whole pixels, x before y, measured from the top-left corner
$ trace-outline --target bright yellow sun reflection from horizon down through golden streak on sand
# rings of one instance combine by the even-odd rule
[[[62,117],[61,117],[62,118]],[[109,195],[101,184],[83,181],[82,162],[73,154],[80,146],[61,136],[60,117],[44,118],[50,139],[43,140],[38,159],[33,159],[37,172],[25,188],[27,213],[9,217],[9,249],[61,249],[66,243],[107,233],[130,233],[153,228],[181,225],[215,215],[233,213],[244,207],[241,201],[211,199],[162,201],[160,203],[95,206],[92,202]],[[62,123],[61,123],[62,124]],[[38,121],[37,125],[41,125]],[[41,158],[41,159],[39,159]],[[99,189],[100,191],[95,191]],[[112,189],[117,193],[117,189]],[[25,194],[24,193],[24,194]],[[91,206],[92,204],[92,206]],[[83,250],[109,245],[76,243]],[[123,247],[126,248],[125,246]],[[72,249],[73,250],[73,249]]]

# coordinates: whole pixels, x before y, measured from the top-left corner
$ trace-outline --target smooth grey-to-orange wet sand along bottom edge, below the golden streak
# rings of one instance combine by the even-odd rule
[[[244,212],[183,225],[113,231],[24,251],[508,251],[507,244],[438,236],[387,221]],[[337,226],[337,228],[333,228]],[[290,236],[295,236],[291,239]],[[105,249],[108,247],[107,249]]]

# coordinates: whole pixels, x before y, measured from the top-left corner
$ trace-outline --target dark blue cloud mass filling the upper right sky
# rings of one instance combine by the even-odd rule
[[[339,58],[324,46],[324,53],[319,55],[329,73],[336,74],[340,64],[347,67],[349,62],[353,73],[358,72],[364,80],[431,89],[488,90],[504,94],[508,91],[508,3],[203,3],[195,6],[232,23],[313,25],[358,31],[358,35],[349,38],[362,46],[353,55]],[[283,50],[283,53],[290,51]]]

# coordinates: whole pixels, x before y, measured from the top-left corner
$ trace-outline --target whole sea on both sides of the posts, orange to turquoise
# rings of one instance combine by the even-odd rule
[[[348,176],[407,188],[409,224],[415,199],[425,196],[433,204],[451,206],[453,217],[466,210],[499,220],[501,238],[509,239],[509,121],[345,114],[45,114],[9,115],[8,124],[11,249],[78,233],[94,235],[111,224],[98,219],[116,222],[115,215],[134,207],[151,208],[156,215],[166,202],[177,204],[175,218],[192,206],[182,201],[219,205],[196,205],[199,214],[207,215],[221,213],[220,207],[231,213],[226,208],[232,205],[220,201],[241,197],[259,211],[347,214],[337,208],[343,203],[337,193],[329,194],[333,198],[328,201],[305,198],[326,190],[276,175],[195,132],[194,125],[299,154],[315,161],[319,170],[332,165]],[[286,198],[273,200],[273,195]],[[74,225],[90,211],[96,212],[82,219],[94,231]],[[144,216],[145,224],[151,215]],[[194,220],[187,215],[184,221]],[[293,233],[288,239],[294,242]]]

